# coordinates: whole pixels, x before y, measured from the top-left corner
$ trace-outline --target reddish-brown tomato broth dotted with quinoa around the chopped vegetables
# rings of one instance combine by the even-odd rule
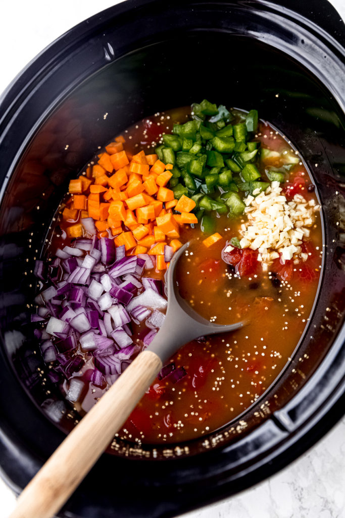
[[[242,120],[242,112],[234,113]],[[124,149],[131,154],[141,149],[154,153],[162,134],[170,133],[174,123],[184,123],[189,117],[189,108],[157,113],[124,132]],[[253,141],[275,152],[261,160],[262,175],[267,167],[281,166],[284,152],[298,156],[291,143],[266,122],[259,122]],[[87,169],[83,174],[87,176]],[[302,160],[290,168],[289,179],[283,185],[288,199],[302,194],[305,200],[317,203]],[[62,218],[63,209],[71,207],[71,200],[67,195],[59,207],[44,252],[46,257],[73,243],[68,236],[71,221]],[[199,224],[200,218],[198,224],[182,225],[179,240],[189,241],[190,246],[179,260],[176,278],[179,293],[205,319],[218,324],[245,321],[246,325],[236,332],[201,337],[182,347],[171,358],[168,368],[170,365],[183,375],[159,376],[117,437],[139,443],[163,443],[207,435],[254,404],[291,361],[317,293],[322,259],[320,216],[314,215],[310,237],[302,245],[308,260],[294,263],[276,258],[266,271],[257,255],[254,259],[250,253],[241,255],[243,250],[236,247],[230,246],[230,262],[223,261],[224,249],[231,239],[239,237],[245,222],[245,213],[234,217],[213,212],[212,234],[218,233],[221,239],[208,247],[204,240],[211,230],[203,226],[202,220]],[[151,269],[144,275],[164,281],[165,271]],[[131,322],[131,331],[138,354],[144,348],[143,337],[149,328],[145,321]],[[98,386],[89,381],[94,357],[80,347],[77,353],[83,358],[82,368],[71,373],[69,379],[59,380],[57,386],[66,394],[70,379],[84,381],[82,396],[71,403],[83,415],[108,390],[111,379],[105,377]]]

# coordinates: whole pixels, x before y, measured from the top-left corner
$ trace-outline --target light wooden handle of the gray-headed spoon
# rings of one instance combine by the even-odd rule
[[[162,368],[143,351],[24,488],[9,518],[51,518],[84,479]]]

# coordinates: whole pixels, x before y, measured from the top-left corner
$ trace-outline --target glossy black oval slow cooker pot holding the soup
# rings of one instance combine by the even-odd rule
[[[72,28],[10,85],[0,104],[0,466],[15,491],[64,438],[44,413],[58,395],[42,385],[28,325],[54,211],[98,146],[196,99],[257,108],[306,160],[324,225],[317,304],[292,362],[245,416],[155,455],[122,444],[59,516],[174,516],[259,482],[343,415],[344,66],[344,25],[326,0],[128,0]]]

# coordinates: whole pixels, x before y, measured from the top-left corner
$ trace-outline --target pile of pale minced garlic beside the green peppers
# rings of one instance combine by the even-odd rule
[[[279,254],[283,262],[307,260],[308,255],[302,252],[302,239],[309,237],[308,227],[313,225],[314,213],[320,209],[314,200],[307,202],[301,194],[295,194],[288,202],[281,191],[279,182],[272,182],[265,192],[244,200],[247,222],[241,225],[239,243],[242,248],[258,250],[258,261],[264,271]]]

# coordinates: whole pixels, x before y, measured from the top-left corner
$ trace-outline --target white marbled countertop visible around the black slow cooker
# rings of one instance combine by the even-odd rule
[[[0,92],[51,41],[73,25],[116,3],[116,0],[2,2],[0,48],[5,50],[1,55]],[[331,0],[331,3],[345,19],[345,0]],[[13,493],[0,479],[2,517],[8,516],[15,501]],[[275,476],[237,496],[183,515],[184,518],[229,516],[345,518],[345,419],[310,451]]]

